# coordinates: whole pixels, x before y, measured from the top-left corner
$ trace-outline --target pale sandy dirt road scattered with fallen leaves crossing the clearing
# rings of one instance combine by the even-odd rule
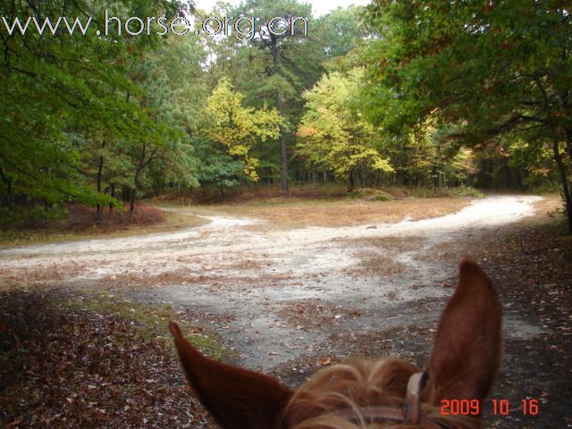
[[[489,197],[422,221],[287,231],[211,215],[187,231],[3,249],[0,281],[120,289],[192,307],[217,316],[212,327],[241,365],[299,366],[307,356],[349,354],[341,346],[370,332],[431,332],[458,260],[471,254],[469,238],[533,214],[538,199]],[[517,315],[506,324],[511,335],[542,332]]]

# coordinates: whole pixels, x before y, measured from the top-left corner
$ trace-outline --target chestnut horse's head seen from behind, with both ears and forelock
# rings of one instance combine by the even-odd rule
[[[476,428],[501,361],[501,304],[468,259],[424,372],[393,357],[356,360],[322,369],[293,391],[203,356],[178,324],[169,328],[190,385],[223,429]],[[472,416],[444,416],[448,400],[464,401]]]

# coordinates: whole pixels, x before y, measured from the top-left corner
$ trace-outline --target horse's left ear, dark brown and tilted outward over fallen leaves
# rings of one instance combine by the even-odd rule
[[[169,329],[189,383],[223,429],[269,429],[292,391],[272,377],[216,362],[190,345],[178,324]]]

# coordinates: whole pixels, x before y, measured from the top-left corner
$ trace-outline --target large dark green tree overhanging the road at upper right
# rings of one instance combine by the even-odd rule
[[[557,0],[378,0],[365,111],[408,132],[430,115],[458,147],[503,135],[549,147],[572,232],[572,21]]]

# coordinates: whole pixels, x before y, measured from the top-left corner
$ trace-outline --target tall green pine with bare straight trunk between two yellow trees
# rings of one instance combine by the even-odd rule
[[[240,55],[248,63],[240,63],[234,69],[233,81],[241,92],[248,95],[248,103],[257,106],[275,107],[282,117],[280,128],[280,148],[276,152],[268,147],[260,148],[262,153],[273,152],[273,162],[280,164],[282,191],[288,192],[289,149],[294,139],[293,130],[299,120],[304,88],[310,88],[324,71],[325,53],[322,46],[311,35],[304,34],[305,25],[297,21],[294,34],[290,34],[286,22],[296,18],[308,19],[308,29],[312,23],[309,4],[297,0],[245,0],[229,11],[231,16],[257,17],[258,28],[246,46],[252,49]],[[281,17],[282,20],[273,20]],[[271,29],[268,25],[272,26]],[[284,34],[282,31],[286,30]],[[245,44],[237,42],[240,50]],[[243,82],[247,82],[246,85]],[[244,88],[243,88],[244,85]],[[275,145],[273,145],[275,147]],[[272,168],[270,169],[273,170]]]

